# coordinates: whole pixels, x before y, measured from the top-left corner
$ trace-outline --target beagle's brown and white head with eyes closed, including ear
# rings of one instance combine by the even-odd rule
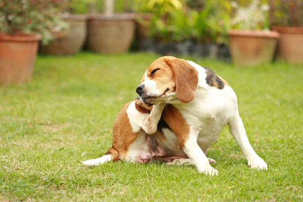
[[[146,70],[136,92],[146,106],[178,99],[189,103],[195,97],[198,72],[187,61],[165,56],[155,60]]]

